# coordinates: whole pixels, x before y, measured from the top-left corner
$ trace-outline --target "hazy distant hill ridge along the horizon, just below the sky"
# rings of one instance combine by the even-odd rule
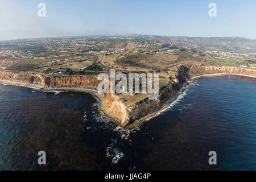
[[[120,38],[120,39],[116,39]],[[214,49],[219,51],[229,51],[246,54],[256,54],[256,40],[240,37],[187,37],[187,36],[159,36],[159,35],[91,35],[91,36],[66,36],[52,38],[34,38],[34,39],[16,39],[1,41],[1,44],[7,42],[31,42],[40,40],[61,40],[61,39],[87,39],[87,40],[119,40],[119,41],[158,41],[172,43],[177,46],[190,46],[200,49]]]

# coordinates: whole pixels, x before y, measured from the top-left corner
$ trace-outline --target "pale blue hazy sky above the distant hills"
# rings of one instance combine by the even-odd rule
[[[38,4],[46,4],[46,17]],[[217,17],[208,15],[216,3]],[[255,0],[0,0],[0,40],[152,34],[256,39]]]

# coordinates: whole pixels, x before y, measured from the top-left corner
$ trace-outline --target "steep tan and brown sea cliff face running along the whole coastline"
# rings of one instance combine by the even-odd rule
[[[95,90],[96,96],[101,101],[101,110],[108,117],[112,118],[121,126],[128,126],[131,123],[139,123],[150,115],[156,113],[164,106],[169,104],[177,93],[185,84],[191,81],[191,78],[217,74],[228,73],[245,76],[255,76],[254,69],[228,67],[218,65],[179,65],[176,68],[176,78],[170,80],[168,85],[159,89],[159,97],[156,100],[147,100],[137,102],[136,104],[127,106],[126,103],[118,96],[118,94],[98,94],[96,93],[99,82],[97,76],[51,76],[44,77],[37,73],[19,73],[0,71],[0,81],[9,81],[11,84],[38,85],[42,89],[80,89],[79,91],[86,92]],[[93,92],[90,92],[93,93]],[[94,94],[94,93],[93,93]]]

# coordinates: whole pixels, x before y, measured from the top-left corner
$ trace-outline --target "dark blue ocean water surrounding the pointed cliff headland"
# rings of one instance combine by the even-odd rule
[[[102,115],[90,94],[0,84],[0,169],[256,170],[256,80],[195,81],[130,131]],[[40,150],[46,166],[37,163]]]

